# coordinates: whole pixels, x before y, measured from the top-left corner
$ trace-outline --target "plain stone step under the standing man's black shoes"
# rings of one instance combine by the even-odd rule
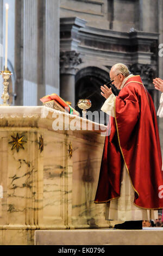
[[[36,230],[35,245],[163,245],[163,228]]]

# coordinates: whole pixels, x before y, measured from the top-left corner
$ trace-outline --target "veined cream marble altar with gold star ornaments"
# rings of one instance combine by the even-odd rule
[[[0,245],[34,245],[38,229],[109,227],[93,203],[105,129],[47,107],[1,107]]]

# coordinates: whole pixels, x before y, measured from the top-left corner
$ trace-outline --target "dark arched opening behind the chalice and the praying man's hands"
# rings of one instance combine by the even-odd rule
[[[79,70],[76,75],[76,109],[82,116],[82,110],[78,108],[79,99],[89,99],[92,102],[90,111],[100,111],[105,101],[101,95],[101,85],[109,82],[109,72],[94,66]],[[106,124],[106,117],[104,118]],[[95,121],[95,120],[93,120]]]

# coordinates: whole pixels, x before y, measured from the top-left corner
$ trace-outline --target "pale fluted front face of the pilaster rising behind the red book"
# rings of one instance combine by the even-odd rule
[[[46,0],[45,86],[46,94],[59,94],[59,0]]]

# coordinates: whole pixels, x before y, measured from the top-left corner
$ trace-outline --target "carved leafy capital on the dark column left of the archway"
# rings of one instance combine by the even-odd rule
[[[60,74],[75,75],[77,66],[82,63],[80,53],[76,51],[60,52]]]

